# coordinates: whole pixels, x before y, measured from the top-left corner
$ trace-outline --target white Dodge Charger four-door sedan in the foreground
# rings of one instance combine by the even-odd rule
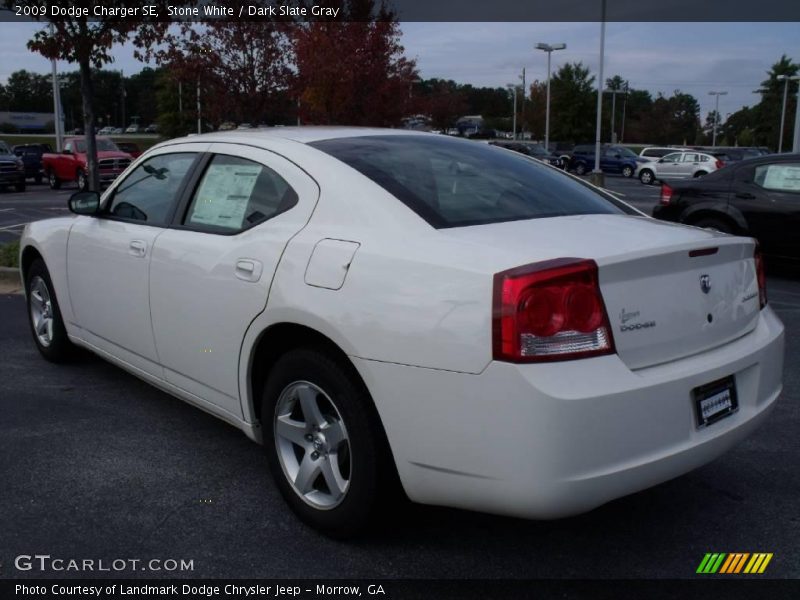
[[[486,144],[209,134],[69,205],[22,237],[42,355],[88,348],[240,428],[333,535],[403,493],[586,511],[720,456],[781,392],[754,240]]]

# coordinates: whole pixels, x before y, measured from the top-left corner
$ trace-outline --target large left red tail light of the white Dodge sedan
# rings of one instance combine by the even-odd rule
[[[495,360],[542,362],[614,353],[593,260],[559,258],[494,276]]]

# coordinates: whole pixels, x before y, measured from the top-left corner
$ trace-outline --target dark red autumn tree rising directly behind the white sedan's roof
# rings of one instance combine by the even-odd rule
[[[396,17],[371,0],[343,2],[346,21],[295,26],[294,60],[304,123],[398,125],[411,106],[416,65]]]

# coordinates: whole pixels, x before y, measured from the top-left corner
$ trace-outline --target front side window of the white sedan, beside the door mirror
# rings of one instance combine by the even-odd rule
[[[144,225],[166,225],[196,156],[183,152],[146,160],[116,187],[106,214]]]

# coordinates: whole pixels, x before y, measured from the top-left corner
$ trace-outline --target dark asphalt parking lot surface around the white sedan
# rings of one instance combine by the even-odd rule
[[[657,199],[609,180],[640,208]],[[0,231],[16,231],[8,215],[57,213],[71,193],[37,187],[0,194]],[[762,577],[798,578],[800,276],[773,269],[768,289],[787,328],[784,394],[724,457],[579,517],[411,506],[347,543],[294,518],[238,430],[100,359],[45,362],[23,298],[0,296],[0,578],[47,576],[15,569],[34,553],[193,561],[191,572],[117,573],[132,577],[692,578],[706,552],[771,552]]]

